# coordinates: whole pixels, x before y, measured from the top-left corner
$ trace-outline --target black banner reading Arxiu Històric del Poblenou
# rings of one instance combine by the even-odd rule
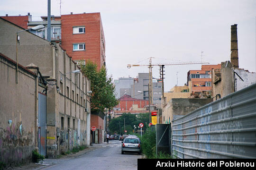
[[[255,170],[255,159],[138,159],[138,170]]]

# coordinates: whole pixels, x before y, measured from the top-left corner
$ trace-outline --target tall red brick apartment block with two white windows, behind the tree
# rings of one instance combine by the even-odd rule
[[[100,13],[61,16],[61,43],[67,54],[76,60],[105,65],[105,37]]]

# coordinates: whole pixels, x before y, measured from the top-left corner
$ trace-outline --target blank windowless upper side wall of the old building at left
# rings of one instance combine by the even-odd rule
[[[15,61],[16,33],[21,30],[23,29],[0,18],[0,52]],[[42,76],[53,77],[53,47],[50,42],[27,31],[18,35],[18,63],[23,66],[33,63],[40,68]]]

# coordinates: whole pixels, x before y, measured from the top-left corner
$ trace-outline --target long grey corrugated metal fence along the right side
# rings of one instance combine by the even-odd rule
[[[173,120],[178,158],[256,158],[256,84]]]

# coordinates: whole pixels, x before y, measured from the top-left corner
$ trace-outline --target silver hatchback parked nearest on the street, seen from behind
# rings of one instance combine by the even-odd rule
[[[122,142],[122,151],[121,153],[124,154],[125,152],[129,153],[138,153],[141,154],[141,147],[140,147],[140,140],[137,137],[126,137]]]

